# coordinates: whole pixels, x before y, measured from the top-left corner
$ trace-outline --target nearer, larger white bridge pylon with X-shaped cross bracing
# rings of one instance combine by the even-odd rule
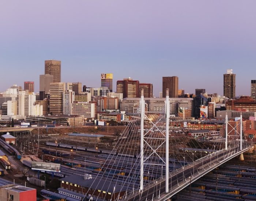
[[[145,101],[144,101],[144,92],[143,89],[141,90],[141,98],[140,98],[140,190],[143,190],[143,174],[144,174],[144,164],[148,165],[159,165],[156,163],[147,163],[148,159],[155,154],[158,156],[160,160],[165,164],[165,192],[169,192],[169,118],[170,118],[170,100],[169,100],[169,89],[166,89],[166,101],[165,101],[165,133],[162,132],[161,129],[157,127],[157,123],[161,120],[158,118],[157,122],[154,123],[150,118],[145,115]],[[147,119],[153,125],[145,134],[144,134],[144,119]],[[152,130],[157,129],[159,133],[161,133],[162,137],[155,137],[151,134],[147,136],[149,132]],[[157,146],[154,147],[148,140],[162,140],[162,142]],[[144,159],[144,143],[151,149],[151,153],[147,155]],[[165,144],[165,159],[162,158],[158,153],[157,150],[161,148]]]

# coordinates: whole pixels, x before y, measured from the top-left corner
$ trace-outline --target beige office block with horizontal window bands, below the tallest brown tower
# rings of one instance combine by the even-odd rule
[[[63,93],[66,90],[72,91],[72,83],[50,83],[50,113],[63,114]]]

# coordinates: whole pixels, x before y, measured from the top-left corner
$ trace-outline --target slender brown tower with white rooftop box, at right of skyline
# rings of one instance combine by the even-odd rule
[[[229,99],[234,99],[236,97],[236,74],[233,74],[232,69],[227,69],[223,78],[223,95]]]

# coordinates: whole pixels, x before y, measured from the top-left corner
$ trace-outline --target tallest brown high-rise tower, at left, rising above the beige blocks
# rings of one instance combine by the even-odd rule
[[[61,61],[46,60],[45,75],[53,75],[53,82],[60,82],[61,78]]]

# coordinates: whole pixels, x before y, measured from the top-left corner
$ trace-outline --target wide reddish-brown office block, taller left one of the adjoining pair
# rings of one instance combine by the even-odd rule
[[[131,77],[116,82],[117,93],[123,93],[123,98],[139,98],[139,81]]]

